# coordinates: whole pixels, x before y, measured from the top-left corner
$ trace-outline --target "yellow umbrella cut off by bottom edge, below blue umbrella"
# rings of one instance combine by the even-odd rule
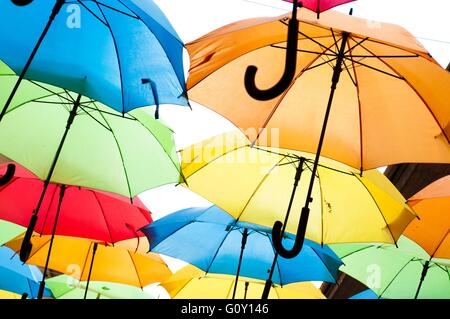
[[[175,299],[230,299],[236,278],[229,275],[205,274],[198,268],[188,265],[164,281],[163,286]],[[237,285],[236,297],[239,299],[259,299],[264,282],[241,277]],[[270,299],[325,299],[322,292],[310,282],[273,285]]]

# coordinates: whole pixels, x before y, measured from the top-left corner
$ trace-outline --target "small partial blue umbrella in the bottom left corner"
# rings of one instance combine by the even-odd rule
[[[31,298],[36,298],[40,278],[42,273],[38,267],[23,264],[13,250],[0,247],[0,290],[26,293]],[[45,288],[44,296],[52,296],[48,288]]]

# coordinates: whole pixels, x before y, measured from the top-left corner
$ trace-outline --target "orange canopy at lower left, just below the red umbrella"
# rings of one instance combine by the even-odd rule
[[[27,263],[43,267],[50,236],[34,236],[31,242],[33,250]],[[21,244],[22,237],[18,237],[7,246],[17,251]],[[156,254],[144,256],[119,247],[97,246],[85,239],[55,236],[52,251],[48,267],[81,281],[109,281],[143,288],[171,275],[167,265]]]

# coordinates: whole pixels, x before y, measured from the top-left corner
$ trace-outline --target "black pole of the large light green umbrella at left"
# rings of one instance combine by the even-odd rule
[[[26,262],[28,260],[28,257],[30,255],[32,245],[31,245],[31,236],[33,235],[34,227],[36,226],[38,213],[42,205],[42,201],[44,200],[45,194],[47,192],[48,184],[50,183],[50,180],[52,178],[53,172],[56,167],[56,163],[58,162],[59,155],[61,154],[62,148],[64,146],[64,143],[66,141],[67,134],[69,133],[70,127],[72,126],[73,120],[75,119],[75,116],[77,115],[78,107],[80,106],[81,102],[81,94],[78,95],[77,100],[73,104],[72,111],[70,112],[69,118],[67,119],[66,124],[66,130],[64,131],[64,134],[61,138],[61,141],[59,142],[58,149],[56,150],[55,157],[53,158],[53,162],[50,166],[50,169],[47,174],[47,178],[44,181],[44,188],[42,189],[41,196],[39,198],[38,204],[36,206],[36,209],[33,212],[33,215],[31,216],[30,223],[28,224],[27,231],[25,233],[25,237],[22,241],[22,246],[20,247],[20,260],[22,262]]]

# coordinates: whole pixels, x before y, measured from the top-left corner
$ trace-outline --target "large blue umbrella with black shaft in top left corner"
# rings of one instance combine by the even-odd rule
[[[160,103],[187,105],[183,43],[153,1],[14,2],[1,4],[0,59],[20,77],[6,90],[11,94],[0,104],[0,121],[24,77],[121,113]]]

